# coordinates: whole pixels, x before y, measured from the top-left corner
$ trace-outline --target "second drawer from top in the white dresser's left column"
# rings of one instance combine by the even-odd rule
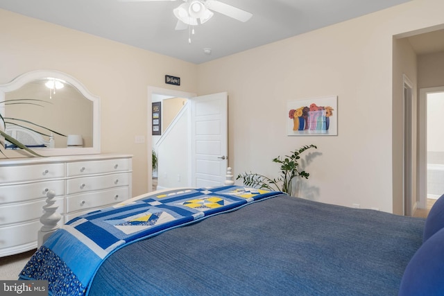
[[[0,186],[0,204],[46,198],[48,190],[53,190],[56,196],[64,195],[65,181],[56,180]]]

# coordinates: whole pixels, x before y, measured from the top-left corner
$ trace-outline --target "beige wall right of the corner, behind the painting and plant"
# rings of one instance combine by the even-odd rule
[[[415,0],[201,64],[198,94],[230,95],[234,172],[275,176],[273,157],[314,143],[318,154],[302,197],[399,214],[402,114],[395,112],[400,97],[392,96],[393,35],[443,24],[442,11],[444,1]],[[330,95],[339,97],[337,137],[286,136],[288,100]]]

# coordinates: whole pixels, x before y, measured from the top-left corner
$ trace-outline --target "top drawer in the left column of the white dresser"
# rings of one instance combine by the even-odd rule
[[[65,164],[1,166],[0,184],[65,177]]]

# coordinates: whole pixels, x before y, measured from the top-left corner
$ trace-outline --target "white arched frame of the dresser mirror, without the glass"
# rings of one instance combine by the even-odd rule
[[[24,73],[14,78],[11,82],[5,85],[0,85],[0,102],[5,101],[5,94],[13,92],[20,87],[26,85],[28,82],[35,80],[42,80],[46,78],[58,78],[65,80],[67,83],[76,87],[80,94],[92,101],[93,104],[93,123],[92,123],[92,147],[84,148],[34,148],[35,152],[43,156],[58,156],[58,155],[85,155],[85,154],[99,154],[100,149],[100,97],[92,94],[89,90],[76,78],[69,76],[67,73],[62,73],[56,70],[35,70]],[[0,105],[0,113],[5,114],[5,104]],[[0,128],[4,129],[3,126]],[[50,127],[51,128],[51,127]],[[7,157],[19,157],[29,155],[25,150],[4,150]]]

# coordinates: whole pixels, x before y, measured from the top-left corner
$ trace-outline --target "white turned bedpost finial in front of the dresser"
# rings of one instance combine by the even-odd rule
[[[37,234],[37,247],[43,245],[46,239],[56,232],[58,229],[58,222],[62,218],[60,214],[56,211],[58,206],[56,206],[56,193],[52,190],[45,189],[46,191],[46,204],[43,206],[44,214],[40,217],[40,222],[43,224],[42,228],[40,228]]]

